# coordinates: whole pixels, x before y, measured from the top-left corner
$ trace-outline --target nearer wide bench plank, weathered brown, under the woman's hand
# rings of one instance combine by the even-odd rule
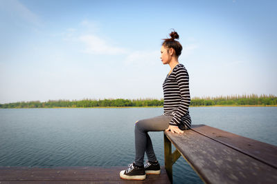
[[[206,183],[276,183],[277,170],[193,130],[165,132]]]

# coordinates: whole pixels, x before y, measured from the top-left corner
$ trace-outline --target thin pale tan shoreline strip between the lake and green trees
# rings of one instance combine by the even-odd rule
[[[199,105],[190,106],[189,108],[212,108],[212,107],[240,107],[240,108],[251,108],[251,107],[277,107],[277,105]],[[54,108],[0,108],[0,109],[122,109],[122,108],[163,108],[163,106],[142,106],[142,107],[89,107],[89,108],[66,108],[66,107],[54,107]]]

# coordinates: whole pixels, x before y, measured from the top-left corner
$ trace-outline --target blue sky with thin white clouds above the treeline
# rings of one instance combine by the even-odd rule
[[[0,103],[161,99],[172,28],[190,96],[277,95],[277,1],[0,0]]]

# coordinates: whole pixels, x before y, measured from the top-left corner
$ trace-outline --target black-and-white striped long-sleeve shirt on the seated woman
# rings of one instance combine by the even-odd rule
[[[184,125],[190,128],[191,119],[188,111],[190,105],[190,90],[188,72],[179,63],[163,82],[163,114],[172,115],[170,125]]]

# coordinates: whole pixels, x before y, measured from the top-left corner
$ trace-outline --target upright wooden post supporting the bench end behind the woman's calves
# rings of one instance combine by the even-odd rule
[[[171,152],[171,142],[169,141],[166,134],[163,134],[164,141],[164,155],[165,155],[165,167],[166,172],[168,173],[168,178],[172,183],[172,152]]]

